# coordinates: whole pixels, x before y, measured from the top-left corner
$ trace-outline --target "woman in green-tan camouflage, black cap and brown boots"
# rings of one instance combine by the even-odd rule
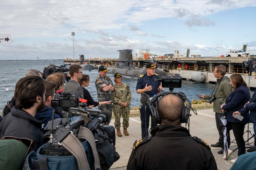
[[[123,117],[123,128],[124,128],[124,135],[128,136],[129,133],[127,132],[127,128],[129,127],[129,114],[130,114],[130,105],[132,100],[131,90],[129,86],[125,83],[122,83],[121,74],[115,73],[114,75],[114,91],[111,91],[111,95],[113,98],[113,113],[115,115],[115,128],[116,128],[116,135],[121,137],[121,122],[120,118],[121,115]]]

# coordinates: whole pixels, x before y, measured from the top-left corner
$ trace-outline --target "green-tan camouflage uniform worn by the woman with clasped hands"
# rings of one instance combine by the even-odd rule
[[[123,117],[123,127],[129,127],[129,114],[130,114],[130,105],[132,100],[131,90],[129,86],[125,83],[119,87],[117,84],[114,85],[115,90],[111,92],[113,97],[113,113],[115,115],[115,128],[118,129],[121,127],[120,118]],[[121,102],[127,103],[128,106],[121,106]]]

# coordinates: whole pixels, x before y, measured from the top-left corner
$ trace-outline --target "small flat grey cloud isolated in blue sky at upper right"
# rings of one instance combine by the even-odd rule
[[[198,17],[193,17],[191,19],[187,19],[184,22],[185,25],[188,27],[209,27],[209,26],[215,26],[215,21],[212,21],[209,18],[198,18]]]

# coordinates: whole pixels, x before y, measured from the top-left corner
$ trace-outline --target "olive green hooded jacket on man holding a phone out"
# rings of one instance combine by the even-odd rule
[[[221,80],[221,82],[220,82],[220,79],[217,79],[217,82],[216,82],[216,85],[214,88],[214,93],[212,95],[214,95],[216,93],[215,94],[216,99],[213,101],[213,111],[216,113],[222,114],[222,110],[220,109],[220,106],[226,102],[227,97],[229,96],[229,94],[232,91],[232,86],[229,83],[230,79],[228,78],[228,76],[224,76],[223,79]],[[217,90],[219,82],[220,82],[220,86]],[[211,95],[204,96],[205,100],[209,100],[210,98],[211,98]],[[222,100],[221,105],[220,105],[220,99]]]

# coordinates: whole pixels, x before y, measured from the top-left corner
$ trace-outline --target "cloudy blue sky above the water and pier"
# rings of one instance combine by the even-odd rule
[[[255,0],[1,0],[0,60],[118,58],[150,54],[226,55],[256,50]],[[71,32],[75,32],[72,36]],[[74,43],[74,46],[73,46]],[[251,51],[255,53],[256,51]]]

